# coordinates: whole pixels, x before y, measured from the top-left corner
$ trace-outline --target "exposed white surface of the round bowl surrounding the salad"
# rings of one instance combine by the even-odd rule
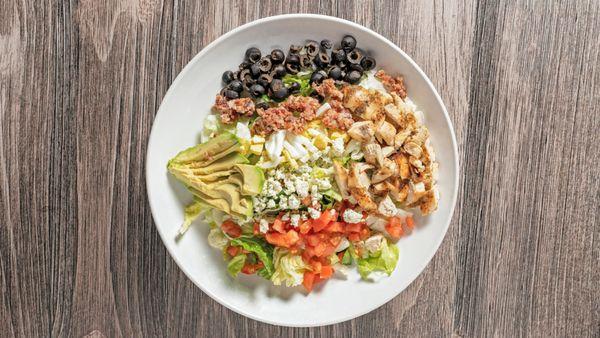
[[[259,47],[265,53],[273,48],[287,50],[290,44],[306,39],[328,38],[335,42],[345,34],[354,35],[358,46],[375,57],[378,67],[391,74],[402,74],[409,97],[425,113],[440,163],[439,209],[416,220],[418,228],[398,242],[400,259],[396,271],[376,283],[361,281],[353,271],[347,280],[329,280],[306,295],[301,287],[277,287],[258,277],[232,279],[221,253],[207,243],[208,226],[195,224],[176,240],[183,209],[191,195],[167,173],[167,161],[199,142],[203,119],[221,88],[221,74],[235,69],[248,47]],[[146,165],[148,199],[156,228],[181,270],[202,291],[229,309],[285,326],[338,323],[394,298],[423,271],[440,246],[450,224],[458,188],[458,154],[452,124],[442,100],[419,66],[389,40],[363,26],[312,14],[280,15],[250,22],[198,53],[163,99],[152,127]]]

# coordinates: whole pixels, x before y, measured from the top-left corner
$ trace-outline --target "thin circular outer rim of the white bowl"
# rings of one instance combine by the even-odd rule
[[[435,250],[432,250],[431,253],[428,255],[427,260],[426,260],[426,264],[423,265],[423,267],[420,269],[420,271],[418,271],[416,274],[414,274],[414,277],[412,278],[412,280],[406,285],[406,287],[398,292],[391,292],[389,294],[388,297],[386,297],[384,299],[383,302],[381,302],[378,305],[374,305],[374,306],[368,306],[365,307],[363,309],[361,309],[360,311],[352,314],[352,315],[347,315],[347,316],[343,316],[340,318],[336,318],[333,320],[324,320],[321,322],[317,322],[317,323],[311,323],[311,324],[293,324],[293,323],[287,323],[287,322],[280,322],[277,320],[271,320],[271,319],[266,319],[266,318],[262,318],[259,317],[257,315],[254,315],[251,312],[247,312],[241,309],[236,308],[234,305],[229,304],[225,299],[222,299],[221,297],[219,297],[218,295],[216,295],[215,293],[213,293],[212,291],[204,288],[202,285],[200,285],[195,279],[193,279],[190,275],[190,273],[186,270],[186,268],[181,264],[179,258],[174,254],[173,249],[170,247],[170,245],[168,245],[167,240],[166,240],[166,234],[161,230],[161,228],[158,226],[158,223],[155,221],[157,219],[157,217],[155,216],[155,210],[158,210],[156,206],[153,205],[152,199],[150,198],[150,196],[153,194],[151,191],[153,190],[151,188],[151,184],[150,184],[150,179],[149,177],[150,175],[150,166],[149,166],[149,157],[150,157],[150,149],[152,149],[152,145],[154,142],[156,142],[156,140],[152,137],[154,134],[154,128],[156,128],[156,118],[161,114],[161,111],[164,109],[164,104],[166,101],[169,100],[169,98],[173,95],[174,92],[174,88],[177,87],[177,84],[181,81],[181,79],[184,77],[184,75],[189,72],[189,70],[192,68],[192,66],[198,62],[198,60],[204,55],[206,54],[208,51],[210,51],[214,46],[218,45],[219,43],[227,40],[230,36],[241,32],[243,30],[246,30],[250,27],[253,27],[255,25],[260,25],[266,22],[270,22],[270,21],[279,21],[279,20],[288,20],[288,19],[319,19],[319,20],[324,20],[324,21],[332,21],[332,22],[336,22],[336,23],[341,23],[344,25],[348,25],[353,27],[354,29],[363,31],[364,33],[367,33],[368,35],[373,36],[374,38],[380,39],[382,42],[388,44],[391,48],[393,48],[396,52],[400,53],[406,60],[408,60],[408,62],[417,70],[418,74],[425,80],[425,83],[427,84],[427,86],[429,87],[429,89],[431,89],[431,91],[434,94],[435,99],[437,100],[438,104],[442,107],[442,111],[444,113],[444,118],[445,118],[445,122],[448,125],[448,127],[450,128],[450,136],[451,136],[451,140],[452,140],[452,151],[453,151],[453,156],[454,156],[454,182],[456,182],[456,184],[454,185],[454,189],[452,192],[452,196],[451,196],[451,201],[450,201],[450,217],[448,218],[448,220],[445,222],[445,224],[443,225],[443,235],[440,236],[439,240],[437,241],[437,243],[435,243]],[[457,142],[456,142],[456,134],[454,131],[454,126],[452,124],[452,121],[450,120],[450,117],[448,115],[448,111],[446,109],[446,106],[444,105],[444,102],[442,101],[439,93],[437,92],[436,88],[433,86],[433,84],[431,83],[431,80],[429,79],[429,77],[425,74],[425,72],[423,72],[423,70],[421,69],[421,67],[419,67],[419,65],[408,55],[406,54],[400,47],[398,47],[396,44],[394,44],[393,42],[391,42],[389,39],[387,39],[386,37],[384,37],[383,35],[365,27],[362,26],[358,23],[349,21],[349,20],[345,20],[342,18],[338,18],[338,17],[334,17],[334,16],[329,16],[329,15],[323,15],[323,14],[311,14],[311,13],[294,13],[294,14],[280,14],[280,15],[273,15],[273,16],[269,16],[269,17],[264,17],[264,18],[260,18],[254,21],[250,21],[247,22],[241,26],[235,27],[233,29],[231,29],[230,31],[228,31],[227,33],[219,36],[218,38],[216,38],[215,40],[213,40],[212,42],[210,42],[208,45],[206,45],[204,48],[202,48],[202,50],[200,50],[186,65],[185,67],[182,68],[182,70],[179,72],[179,74],[177,75],[177,77],[175,77],[175,80],[173,80],[173,82],[169,85],[169,89],[167,90],[167,92],[165,93],[165,96],[163,97],[161,104],[157,110],[156,115],[153,118],[152,121],[152,128],[150,130],[150,135],[148,138],[148,146],[147,146],[147,150],[146,150],[146,170],[145,170],[145,175],[146,175],[146,191],[147,191],[147,198],[148,198],[148,204],[150,205],[150,212],[152,214],[152,220],[154,222],[155,228],[158,231],[160,238],[163,242],[163,245],[165,246],[165,248],[167,249],[167,252],[169,254],[169,256],[171,256],[171,258],[175,261],[175,263],[177,264],[177,266],[179,267],[179,269],[181,269],[181,271],[183,271],[183,273],[185,274],[185,276],[192,281],[192,283],[194,283],[194,285],[196,285],[200,290],[202,290],[202,292],[206,293],[210,298],[212,298],[213,300],[215,300],[217,303],[225,306],[226,308],[228,308],[229,310],[238,313],[240,315],[243,315],[245,317],[251,318],[253,320],[259,321],[259,322],[263,322],[263,323],[267,323],[267,324],[271,324],[271,325],[278,325],[278,326],[286,326],[286,327],[318,327],[318,326],[326,326],[326,325],[332,325],[332,324],[336,324],[336,323],[341,323],[341,322],[345,322],[348,320],[352,320],[354,318],[358,318],[360,316],[363,316],[385,304],[387,304],[389,301],[391,301],[392,299],[394,299],[396,296],[398,296],[402,291],[406,290],[406,288],[408,288],[408,286],[410,286],[415,279],[417,279],[417,277],[419,277],[423,271],[425,270],[425,268],[429,265],[429,263],[431,262],[431,260],[433,259],[433,256],[438,252],[440,245],[442,244],[444,238],[446,238],[446,234],[448,232],[448,228],[450,227],[450,223],[452,222],[453,216],[454,216],[454,210],[456,207],[456,200],[457,200],[457,196],[458,196],[458,188],[460,185],[459,182],[459,156],[458,156],[458,146],[457,146]]]

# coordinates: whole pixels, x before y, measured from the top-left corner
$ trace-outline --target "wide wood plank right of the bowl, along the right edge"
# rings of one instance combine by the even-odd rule
[[[597,334],[597,3],[480,3],[477,18],[455,329]]]

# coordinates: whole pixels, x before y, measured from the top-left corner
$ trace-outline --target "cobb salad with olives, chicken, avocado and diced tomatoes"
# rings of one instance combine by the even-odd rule
[[[231,276],[308,292],[352,268],[390,275],[413,213],[439,200],[424,115],[402,77],[347,35],[249,48],[222,80],[202,143],[167,165],[194,197],[179,234],[202,218]]]

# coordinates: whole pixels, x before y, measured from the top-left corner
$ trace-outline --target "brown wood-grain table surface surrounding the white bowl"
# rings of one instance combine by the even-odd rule
[[[197,289],[154,228],[144,177],[181,68],[240,24],[297,12],[358,22],[411,55],[461,163],[423,274],[314,329],[246,319]],[[0,335],[598,336],[599,32],[595,0],[2,1]]]

